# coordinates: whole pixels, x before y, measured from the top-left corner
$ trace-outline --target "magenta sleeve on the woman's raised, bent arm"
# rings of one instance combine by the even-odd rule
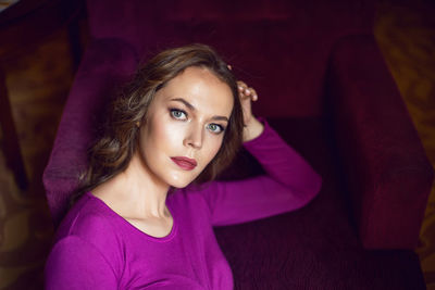
[[[266,174],[238,181],[214,181],[201,190],[213,226],[246,223],[295,211],[311,201],[321,176],[290,148],[268,122],[263,133],[245,142]]]

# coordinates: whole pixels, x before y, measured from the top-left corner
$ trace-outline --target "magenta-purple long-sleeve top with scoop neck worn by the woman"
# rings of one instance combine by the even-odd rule
[[[297,210],[322,179],[264,123],[245,142],[266,175],[213,181],[166,198],[171,232],[149,236],[90,192],[60,225],[46,264],[47,289],[233,289],[233,275],[213,226],[234,225]]]

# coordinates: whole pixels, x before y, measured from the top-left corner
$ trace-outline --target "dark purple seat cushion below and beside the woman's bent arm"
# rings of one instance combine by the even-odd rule
[[[236,289],[425,289],[412,251],[362,248],[326,121],[269,122],[310,162],[323,186],[319,196],[298,211],[215,228],[236,277]],[[261,174],[259,166],[244,151],[220,178]]]

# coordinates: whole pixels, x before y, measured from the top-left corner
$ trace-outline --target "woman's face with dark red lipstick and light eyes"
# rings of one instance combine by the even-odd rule
[[[186,187],[221,148],[233,110],[229,87],[188,67],[160,89],[140,128],[138,153],[156,181]]]

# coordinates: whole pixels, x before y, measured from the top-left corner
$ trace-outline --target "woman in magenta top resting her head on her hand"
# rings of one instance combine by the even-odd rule
[[[84,194],[63,219],[47,289],[232,289],[213,226],[293,211],[321,177],[265,121],[209,47],[159,53],[113,104]],[[245,148],[266,175],[212,181]]]

